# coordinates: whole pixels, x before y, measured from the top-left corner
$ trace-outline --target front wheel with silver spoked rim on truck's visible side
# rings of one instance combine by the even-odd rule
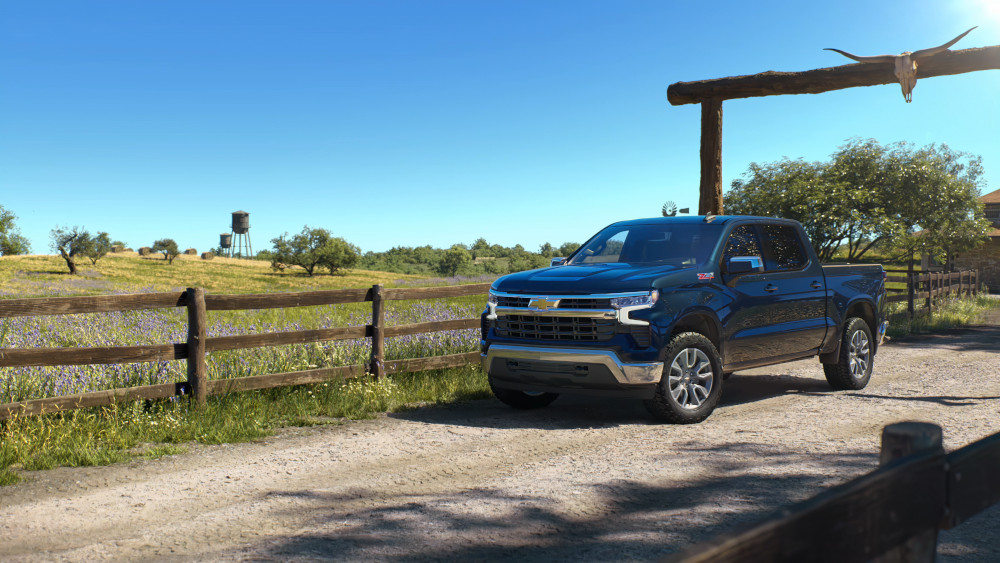
[[[701,422],[719,403],[722,379],[722,360],[712,341],[697,332],[683,332],[663,353],[663,376],[656,395],[645,401],[646,409],[674,424]]]

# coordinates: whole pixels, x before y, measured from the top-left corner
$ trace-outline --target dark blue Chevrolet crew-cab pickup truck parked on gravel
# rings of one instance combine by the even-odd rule
[[[887,325],[882,266],[821,265],[796,221],[659,217],[494,282],[481,357],[513,407],[590,393],[692,423],[741,369],[819,356],[834,389],[865,387]]]

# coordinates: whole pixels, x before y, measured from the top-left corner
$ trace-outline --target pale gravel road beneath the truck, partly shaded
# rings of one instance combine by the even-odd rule
[[[650,560],[874,469],[884,425],[1000,431],[1000,328],[897,340],[869,386],[815,360],[742,372],[705,422],[636,402],[477,401],[252,444],[27,475],[0,488],[0,560]],[[939,538],[1000,560],[1000,509]]]

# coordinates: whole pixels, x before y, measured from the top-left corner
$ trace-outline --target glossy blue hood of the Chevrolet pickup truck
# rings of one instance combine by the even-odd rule
[[[644,266],[625,263],[571,264],[528,270],[503,276],[493,288],[505,293],[541,293],[546,295],[587,295],[649,291],[663,287],[663,278],[693,266]],[[657,283],[658,282],[658,283]]]

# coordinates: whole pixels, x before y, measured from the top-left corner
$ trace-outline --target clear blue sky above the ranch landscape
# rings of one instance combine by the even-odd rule
[[[997,0],[0,0],[0,205],[36,253],[254,250],[303,225],[362,250],[582,242],[697,211],[697,105],[673,82],[1000,44]],[[919,74],[918,74],[919,77]],[[946,143],[1000,188],[1000,71],[724,104],[723,182],[847,139]]]

